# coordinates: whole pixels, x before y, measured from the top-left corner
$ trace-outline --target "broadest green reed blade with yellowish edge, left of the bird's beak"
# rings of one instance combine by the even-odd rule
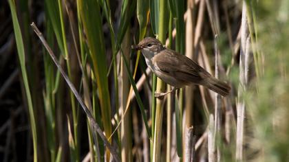
[[[98,96],[102,113],[105,135],[111,135],[111,105],[107,80],[105,44],[103,42],[102,16],[97,1],[78,1],[83,29],[87,36],[90,56],[92,58],[94,76],[98,85]],[[107,152],[109,155],[109,152]]]

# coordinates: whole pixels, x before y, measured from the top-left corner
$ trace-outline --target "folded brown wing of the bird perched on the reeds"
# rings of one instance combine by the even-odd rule
[[[153,58],[153,64],[169,76],[185,82],[198,83],[210,75],[193,60],[178,54],[171,49],[165,49]]]

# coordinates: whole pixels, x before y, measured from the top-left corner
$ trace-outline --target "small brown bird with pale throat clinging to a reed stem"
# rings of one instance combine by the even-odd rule
[[[133,45],[131,48],[142,50],[149,69],[158,78],[174,86],[172,91],[189,84],[206,86],[208,89],[223,96],[228,95],[231,90],[228,84],[211,76],[208,71],[197,65],[190,58],[167,49],[156,38],[144,38],[138,45]],[[171,93],[171,91],[167,93]],[[167,95],[167,93],[155,93],[155,95],[156,97],[162,97]]]

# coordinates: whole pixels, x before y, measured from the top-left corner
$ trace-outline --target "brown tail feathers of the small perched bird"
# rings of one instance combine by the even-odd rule
[[[222,96],[228,95],[231,90],[231,87],[228,84],[213,77],[206,78],[203,85]]]

